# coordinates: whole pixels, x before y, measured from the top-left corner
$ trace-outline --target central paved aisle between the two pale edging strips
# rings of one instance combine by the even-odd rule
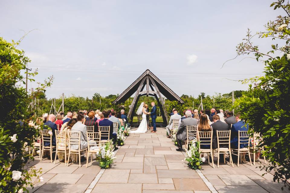
[[[102,174],[92,193],[208,193],[195,170],[182,162],[164,128],[156,133],[130,134],[111,169]]]

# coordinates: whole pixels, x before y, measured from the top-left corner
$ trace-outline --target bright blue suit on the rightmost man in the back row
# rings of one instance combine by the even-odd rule
[[[244,121],[239,121],[232,125],[232,128],[230,129],[230,147],[237,149],[238,148],[238,132],[239,131],[248,131],[249,125],[247,124],[247,127],[245,127]],[[247,139],[247,138],[241,138],[241,139]],[[243,141],[243,143],[246,141]],[[240,144],[240,148],[248,147],[247,144]]]

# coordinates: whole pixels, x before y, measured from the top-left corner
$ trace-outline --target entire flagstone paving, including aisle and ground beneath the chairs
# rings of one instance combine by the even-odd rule
[[[26,167],[42,168],[43,182],[30,192],[50,193],[276,193],[281,184],[272,181],[272,175],[260,171],[258,163],[234,165],[220,163],[220,167],[202,164],[201,170],[192,170],[184,163],[184,152],[176,151],[164,128],[156,133],[130,134],[125,145],[116,153],[111,169],[100,169],[94,161],[85,168],[72,163],[49,163],[50,160],[28,163]],[[215,160],[215,164],[217,160]],[[30,169],[30,168],[28,168]]]

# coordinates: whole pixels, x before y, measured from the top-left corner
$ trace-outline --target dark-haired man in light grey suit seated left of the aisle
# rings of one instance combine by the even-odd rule
[[[78,132],[80,131],[80,136],[81,136],[81,150],[85,149],[88,147],[88,139],[87,139],[87,126],[82,124],[82,122],[84,121],[84,115],[82,114],[78,114],[78,116],[76,117],[77,121],[76,124],[74,124],[72,126],[72,129],[70,131],[73,132]],[[71,149],[78,149],[79,146],[78,145],[72,145]],[[85,157],[81,158],[81,162],[83,162],[85,160]]]

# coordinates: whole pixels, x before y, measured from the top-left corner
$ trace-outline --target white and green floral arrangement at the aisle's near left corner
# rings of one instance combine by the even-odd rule
[[[114,159],[116,159],[113,147],[113,141],[110,140],[102,144],[100,150],[96,153],[97,161],[102,169],[110,168]]]

